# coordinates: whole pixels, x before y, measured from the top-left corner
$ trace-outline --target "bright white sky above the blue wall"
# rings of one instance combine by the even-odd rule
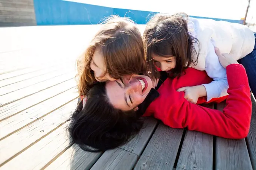
[[[186,12],[188,15],[229,20],[245,17],[248,0],[68,0],[112,8],[133,9],[152,12]],[[250,0],[246,23],[256,23],[256,0]],[[254,25],[255,26],[255,25]]]

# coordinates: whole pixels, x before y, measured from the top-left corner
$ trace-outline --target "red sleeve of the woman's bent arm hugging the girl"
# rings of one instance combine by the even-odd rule
[[[187,127],[190,131],[224,138],[245,138],[252,108],[248,78],[240,64],[231,64],[226,70],[229,96],[223,112],[190,103],[184,99],[184,92],[174,91],[169,99],[171,104],[154,103],[154,117],[173,128]]]

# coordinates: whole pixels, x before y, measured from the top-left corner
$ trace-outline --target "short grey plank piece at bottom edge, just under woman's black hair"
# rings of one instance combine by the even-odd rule
[[[91,170],[131,170],[137,159],[138,155],[116,148],[104,152]]]

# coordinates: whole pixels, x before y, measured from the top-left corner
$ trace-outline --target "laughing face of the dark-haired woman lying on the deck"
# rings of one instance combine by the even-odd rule
[[[128,111],[136,109],[152,88],[148,76],[133,75],[130,79],[117,79],[106,83],[108,98],[114,108]]]

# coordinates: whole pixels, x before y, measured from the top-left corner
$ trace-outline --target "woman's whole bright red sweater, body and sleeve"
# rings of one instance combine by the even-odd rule
[[[160,96],[149,105],[143,116],[153,115],[172,128],[187,127],[190,131],[224,138],[245,138],[249,132],[252,108],[248,78],[240,64],[231,64],[226,70],[229,96],[222,112],[190,103],[184,99],[184,92],[176,91],[181,87],[212,81],[205,71],[188,68],[186,74],[179,79],[165,80],[157,90]],[[210,102],[221,102],[224,99],[212,99]],[[206,98],[198,99],[200,103],[206,103]]]

